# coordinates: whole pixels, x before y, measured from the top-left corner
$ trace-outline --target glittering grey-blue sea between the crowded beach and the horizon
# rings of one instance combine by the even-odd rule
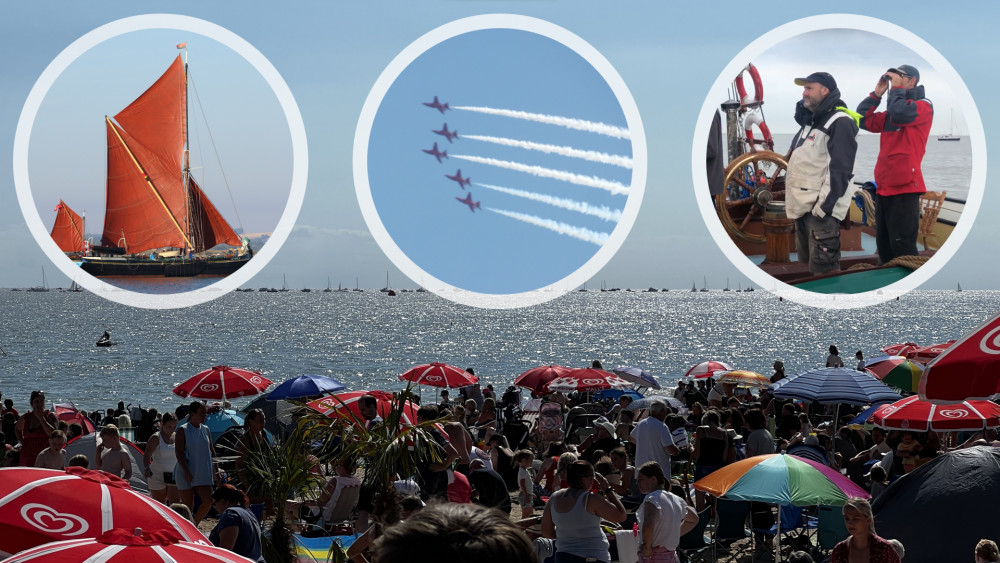
[[[918,291],[875,307],[824,311],[765,291],[572,293],[490,311],[430,293],[233,293],[198,307],[149,311],[89,293],[0,291],[0,390],[18,408],[42,389],[80,408],[118,400],[180,404],[171,389],[228,364],[275,382],[325,374],[349,388],[401,387],[398,375],[441,361],[473,366],[503,388],[541,364],[635,365],[673,381],[706,359],[770,375],[819,367],[830,344],[845,361],[896,342],[956,338],[1000,312],[1000,292]],[[105,329],[116,346],[97,348]]]

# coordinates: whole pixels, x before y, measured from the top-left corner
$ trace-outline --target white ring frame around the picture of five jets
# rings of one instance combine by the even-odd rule
[[[576,54],[583,57],[594,69],[604,78],[605,82],[614,92],[618,103],[625,114],[625,121],[631,132],[632,141],[632,184],[629,190],[628,201],[622,210],[621,219],[611,232],[600,249],[582,266],[571,272],[561,280],[553,282],[545,287],[521,293],[510,294],[489,294],[477,293],[447,284],[431,274],[425,272],[420,266],[396,245],[382,224],[375,202],[372,199],[371,185],[368,180],[368,142],[371,136],[372,125],[379,105],[385,97],[393,82],[400,74],[424,52],[437,46],[452,37],[486,29],[515,29],[535,33],[561,43],[572,49]],[[553,23],[528,16],[515,14],[486,14],[472,16],[456,20],[430,32],[424,34],[419,39],[409,44],[402,52],[386,66],[378,80],[372,86],[365,105],[361,109],[361,116],[358,120],[357,130],[354,134],[354,189],[358,197],[358,205],[361,207],[361,214],[365,218],[365,223],[371,231],[375,242],[385,252],[389,260],[396,265],[411,280],[423,280],[422,284],[437,295],[450,301],[474,307],[491,309],[512,309],[516,307],[527,307],[544,303],[555,299],[570,291],[573,288],[583,285],[587,280],[594,277],[608,261],[615,255],[625,238],[628,236],[635,218],[639,214],[639,207],[642,204],[642,197],[646,187],[646,135],[642,127],[642,120],[639,117],[639,108],[632,98],[625,81],[622,80],[618,72],[611,66],[604,56],[589,43],[574,35],[570,31],[559,27]]]

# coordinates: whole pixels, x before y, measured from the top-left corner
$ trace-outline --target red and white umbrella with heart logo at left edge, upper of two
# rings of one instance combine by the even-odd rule
[[[120,527],[173,530],[185,541],[209,545],[194,523],[128,481],[70,467],[0,468],[0,551],[17,553],[51,541],[96,538]]]

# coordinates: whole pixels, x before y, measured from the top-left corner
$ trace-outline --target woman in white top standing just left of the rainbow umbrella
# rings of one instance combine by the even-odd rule
[[[698,514],[684,499],[663,490],[667,479],[660,464],[639,468],[639,491],[646,495],[635,511],[639,525],[640,563],[677,563],[681,536],[698,523]]]

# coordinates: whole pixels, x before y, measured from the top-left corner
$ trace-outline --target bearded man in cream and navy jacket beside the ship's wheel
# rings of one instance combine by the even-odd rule
[[[785,210],[795,219],[799,261],[822,274],[840,269],[840,223],[851,204],[847,188],[858,125],[829,73],[814,72],[796,78],[795,84],[803,87],[795,106],[795,121],[802,128],[788,154]]]

